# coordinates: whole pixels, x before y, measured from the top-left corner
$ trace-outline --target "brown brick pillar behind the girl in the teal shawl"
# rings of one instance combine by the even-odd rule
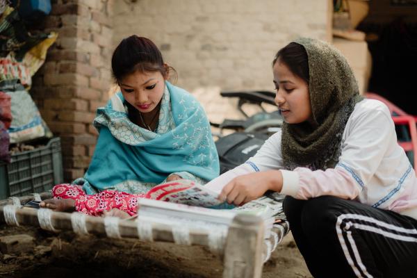
[[[111,85],[112,0],[53,0],[40,30],[58,32],[31,95],[63,146],[65,181],[82,177],[97,140],[92,126]]]

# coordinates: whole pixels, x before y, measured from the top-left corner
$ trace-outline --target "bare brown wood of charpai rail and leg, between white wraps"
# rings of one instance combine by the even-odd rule
[[[40,224],[42,222],[39,217],[40,210],[20,206],[20,204],[25,204],[33,199],[49,198],[51,198],[51,193],[0,200],[0,222],[10,225],[41,227],[50,231],[76,231],[72,224],[72,214],[74,213],[54,212],[47,208],[41,208],[41,210],[44,210],[43,212],[47,210],[46,212],[49,214],[48,228],[45,227],[45,224]],[[14,213],[14,222],[10,222],[10,211]],[[6,217],[6,214],[8,214],[8,217]],[[149,225],[148,223],[148,229],[151,233],[148,233],[147,237],[144,238],[139,231],[140,223],[138,224],[131,219],[122,220],[120,218],[101,218],[88,215],[83,215],[82,219],[85,221],[84,234],[88,232],[88,234],[101,234],[112,238],[138,238],[140,240],[178,243],[172,227],[167,224],[150,223]],[[116,232],[114,227],[113,231],[110,232],[108,220],[112,220],[113,224],[116,223]],[[240,214],[236,215],[232,221],[224,240],[224,246],[220,246],[220,248],[217,248],[218,250],[213,250],[212,234],[208,229],[189,229],[186,244],[204,245],[210,247],[212,252],[220,252],[224,261],[224,278],[259,278],[262,275],[263,263],[269,259],[270,253],[275,250],[275,247],[288,232],[288,224],[285,221],[276,226],[270,238],[265,240],[263,220],[259,216]]]

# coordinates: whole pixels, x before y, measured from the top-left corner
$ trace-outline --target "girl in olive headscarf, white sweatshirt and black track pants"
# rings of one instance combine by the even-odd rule
[[[246,163],[206,186],[236,205],[267,190],[314,277],[417,277],[417,179],[389,109],[363,99],[339,51],[301,38],[273,60],[284,117]]]

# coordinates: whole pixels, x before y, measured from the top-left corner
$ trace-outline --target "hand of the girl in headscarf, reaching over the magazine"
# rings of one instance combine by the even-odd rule
[[[224,186],[218,199],[241,206],[261,197],[267,190],[281,191],[282,174],[279,170],[254,172],[232,179]]]

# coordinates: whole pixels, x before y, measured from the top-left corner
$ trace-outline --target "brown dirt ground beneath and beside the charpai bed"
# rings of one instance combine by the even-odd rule
[[[222,277],[222,258],[202,246],[53,234],[35,227],[0,225],[0,237],[27,234],[24,252],[0,252],[0,277]],[[15,246],[16,247],[16,246]],[[19,249],[16,247],[15,250]],[[263,277],[311,277],[289,234],[263,265]]]

